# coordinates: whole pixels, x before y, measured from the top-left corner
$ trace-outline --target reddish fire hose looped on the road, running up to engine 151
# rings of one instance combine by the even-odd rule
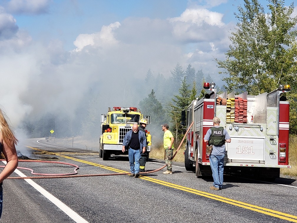
[[[176,156],[178,150],[180,149],[182,143],[184,142],[184,139],[186,138],[188,132],[190,131],[190,128],[192,127],[192,125],[194,124],[194,122],[191,123],[191,125],[189,126],[187,132],[185,133],[183,139],[181,140],[181,143],[179,144],[176,152],[174,153],[174,155],[172,156],[172,159]],[[5,161],[5,160],[0,160],[0,161]],[[7,177],[6,179],[45,179],[45,178],[71,178],[71,177],[99,177],[99,176],[115,176],[115,175],[128,175],[130,174],[129,172],[127,173],[108,173],[108,174],[86,174],[86,175],[77,175],[77,170],[79,169],[79,167],[75,164],[70,164],[70,163],[64,163],[64,162],[58,162],[58,161],[35,161],[35,160],[19,160],[20,162],[39,162],[39,163],[55,163],[55,164],[63,164],[63,165],[70,165],[75,167],[74,172],[73,173],[66,173],[66,174],[47,174],[47,173],[35,173],[33,169],[30,168],[26,168],[26,167],[17,167],[17,169],[26,169],[26,170],[30,170],[31,174],[33,175],[39,175],[39,176],[32,176],[32,177]],[[5,167],[5,166],[0,166],[0,167]],[[155,169],[152,171],[147,171],[147,172],[140,172],[139,174],[143,175],[143,174],[149,174],[149,173],[154,173],[154,172],[158,172],[159,170],[163,169],[164,167],[166,167],[166,165],[160,167],[159,169]]]

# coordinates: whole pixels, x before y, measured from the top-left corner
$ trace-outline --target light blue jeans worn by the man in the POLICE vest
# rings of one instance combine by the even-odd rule
[[[212,177],[214,178],[214,187],[220,188],[223,185],[223,174],[224,174],[224,157],[217,155],[210,155],[209,162],[212,171]]]

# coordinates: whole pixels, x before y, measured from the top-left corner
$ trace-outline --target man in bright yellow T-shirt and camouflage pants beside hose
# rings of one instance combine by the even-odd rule
[[[164,131],[163,145],[165,149],[165,164],[167,170],[163,174],[172,174],[172,156],[173,156],[173,142],[174,137],[172,133],[168,130],[168,124],[161,125],[162,131]]]

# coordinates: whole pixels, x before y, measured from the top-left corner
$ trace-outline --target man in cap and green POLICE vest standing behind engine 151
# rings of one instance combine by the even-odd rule
[[[212,122],[214,127],[208,129],[204,136],[204,142],[213,145],[209,162],[214,183],[209,189],[221,190],[223,185],[225,142],[231,142],[231,138],[228,132],[223,127],[220,127],[221,121],[218,117],[214,117]]]

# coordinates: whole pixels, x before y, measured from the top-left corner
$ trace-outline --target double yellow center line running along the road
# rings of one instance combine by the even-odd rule
[[[27,146],[27,147],[29,147],[29,146]],[[40,150],[40,149],[37,149],[37,148],[34,148],[34,147],[29,147],[29,148],[34,149],[34,150],[39,150],[39,151],[42,151],[42,152],[45,151],[45,150]],[[69,157],[69,156],[60,155],[59,153],[51,153],[51,152],[48,152],[48,153],[56,155],[56,156],[60,156],[60,157],[63,157],[63,158],[71,159],[71,160],[74,160],[74,161],[78,161],[78,162],[81,162],[81,163],[89,164],[89,165],[92,165],[92,166],[95,166],[95,167],[108,169],[108,170],[111,170],[111,171],[114,171],[114,172],[128,173],[127,171],[124,171],[124,170],[115,169],[115,168],[112,168],[112,167],[107,167],[107,166],[92,163],[92,162],[89,162],[89,161],[85,161],[85,160],[81,160],[81,159],[77,159],[77,158],[72,158],[72,157]],[[287,221],[297,223],[297,216],[294,216],[294,215],[290,215],[290,214],[283,213],[283,212],[280,212],[280,211],[274,211],[274,210],[271,210],[271,209],[268,209],[268,208],[263,208],[263,207],[256,206],[256,205],[251,205],[251,204],[248,204],[248,203],[245,203],[245,202],[229,199],[229,198],[226,198],[226,197],[221,197],[221,196],[216,195],[216,194],[210,194],[210,193],[207,193],[207,192],[198,191],[198,190],[195,190],[195,189],[192,189],[192,188],[184,187],[184,186],[181,186],[181,185],[169,183],[169,182],[162,181],[162,180],[157,180],[157,179],[146,177],[146,176],[140,176],[140,178],[143,179],[143,180],[148,180],[148,181],[151,181],[153,183],[163,185],[163,186],[168,186],[168,187],[178,189],[178,190],[182,190],[182,191],[186,191],[186,192],[189,192],[189,193],[192,193],[192,194],[197,194],[199,196],[207,197],[207,198],[210,198],[210,199],[213,199],[213,200],[217,200],[217,201],[221,201],[221,202],[224,202],[224,203],[227,203],[227,204],[235,205],[235,206],[238,206],[238,207],[241,207],[241,208],[249,209],[251,211],[256,211],[256,212],[259,212],[259,213],[262,213],[262,214],[270,215],[270,216],[273,216],[273,217],[277,217],[277,218],[280,218],[280,219],[284,219],[284,220],[287,220]]]

